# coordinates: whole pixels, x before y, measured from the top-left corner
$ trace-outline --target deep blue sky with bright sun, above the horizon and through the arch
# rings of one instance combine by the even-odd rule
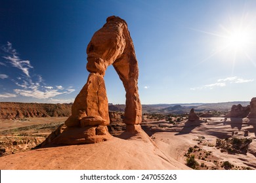
[[[256,89],[256,1],[0,1],[0,101],[70,103],[87,81],[86,48],[123,18],[142,104],[249,101]],[[112,66],[109,103],[125,103]]]

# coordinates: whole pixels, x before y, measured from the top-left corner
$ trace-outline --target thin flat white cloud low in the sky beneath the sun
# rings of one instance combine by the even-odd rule
[[[241,84],[241,83],[253,82],[253,81],[254,79],[244,79],[244,78],[238,78],[238,76],[233,76],[233,77],[221,78],[213,84],[205,84],[200,87],[190,88],[190,90],[213,89],[217,87],[226,86],[227,84]]]

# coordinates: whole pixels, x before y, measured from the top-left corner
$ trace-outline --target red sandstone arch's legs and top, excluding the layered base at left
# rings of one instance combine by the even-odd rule
[[[108,98],[104,78],[106,68],[113,65],[125,88],[126,108],[124,122],[140,124],[142,107],[138,92],[139,68],[133,41],[125,20],[117,16],[107,18],[106,24],[96,31],[87,46],[87,83],[75,98],[72,116],[67,126],[80,125],[83,116],[100,116],[109,124]]]

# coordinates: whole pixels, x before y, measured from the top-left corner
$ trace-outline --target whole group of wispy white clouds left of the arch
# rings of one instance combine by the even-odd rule
[[[13,67],[17,67],[25,75],[20,75],[16,78],[11,78],[11,81],[16,84],[16,88],[13,90],[14,93],[3,93],[0,96],[3,97],[18,97],[19,95],[24,97],[33,97],[36,99],[53,99],[53,97],[62,94],[70,94],[75,92],[72,86],[67,89],[61,85],[56,87],[45,84],[43,77],[32,73],[30,76],[30,69],[33,68],[30,61],[22,60],[18,57],[18,53],[12,48],[11,42],[7,42],[1,49],[5,52],[3,58],[7,59],[6,63]],[[8,75],[0,75],[1,79],[11,77]],[[68,99],[67,99],[68,100]]]

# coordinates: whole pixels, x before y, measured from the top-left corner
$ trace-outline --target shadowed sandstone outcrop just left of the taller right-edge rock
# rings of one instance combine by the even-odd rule
[[[245,118],[250,112],[250,106],[232,105],[230,112],[226,115],[228,118]]]

